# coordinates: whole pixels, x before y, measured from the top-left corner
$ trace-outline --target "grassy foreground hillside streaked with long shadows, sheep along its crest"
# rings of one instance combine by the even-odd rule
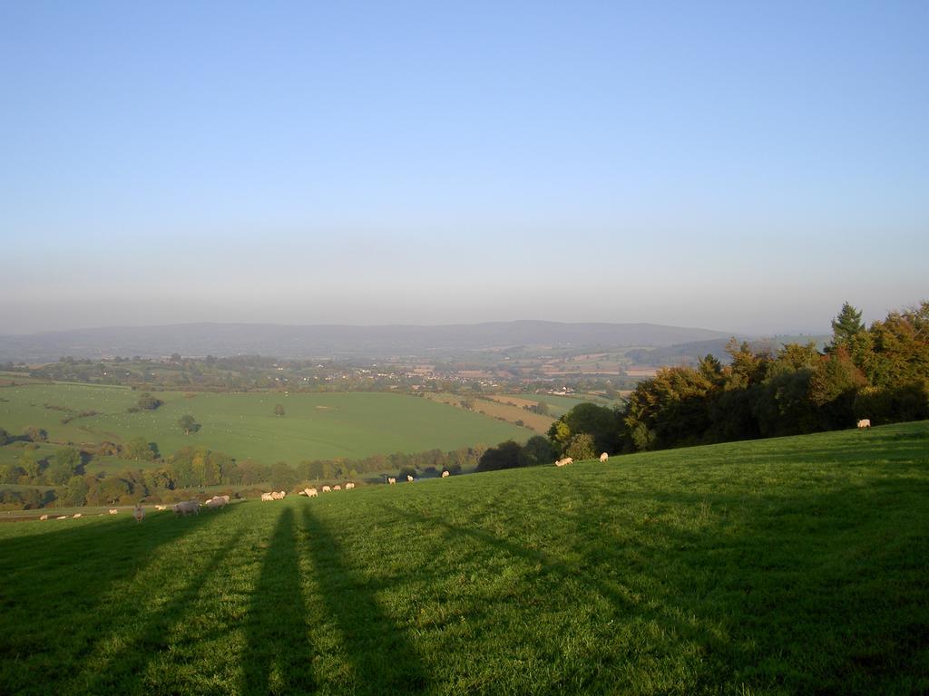
[[[929,422],[0,525],[0,692],[929,690]]]

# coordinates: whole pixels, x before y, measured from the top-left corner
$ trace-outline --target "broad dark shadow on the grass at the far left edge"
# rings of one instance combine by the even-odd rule
[[[162,546],[214,523],[173,518],[17,522],[44,526],[0,542],[0,693],[55,690],[83,666],[86,636],[109,629],[99,609],[111,588],[144,573]]]

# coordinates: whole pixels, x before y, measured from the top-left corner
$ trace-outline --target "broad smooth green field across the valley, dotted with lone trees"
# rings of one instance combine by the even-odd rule
[[[125,442],[141,435],[163,453],[205,445],[235,458],[263,463],[301,459],[364,458],[374,454],[451,450],[525,441],[530,430],[427,399],[393,393],[159,392],[164,406],[128,413],[139,393],[123,388],[42,384],[0,389],[0,426],[19,433],[45,428],[56,442]],[[286,415],[274,415],[274,406]],[[55,406],[48,408],[46,406]],[[61,410],[65,409],[65,410]],[[71,414],[95,410],[98,415]],[[203,428],[185,435],[177,425],[191,414]]]

